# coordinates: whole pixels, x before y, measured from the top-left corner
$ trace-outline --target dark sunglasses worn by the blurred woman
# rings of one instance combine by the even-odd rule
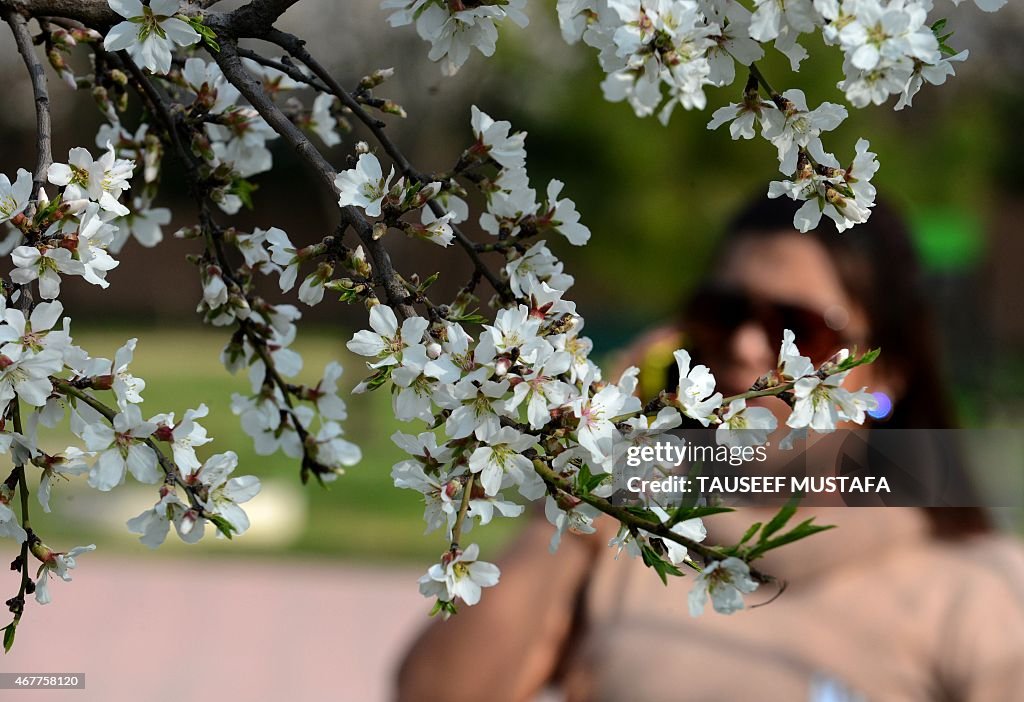
[[[738,288],[706,287],[690,299],[684,316],[684,332],[701,356],[728,357],[733,335],[743,324],[757,323],[770,342],[782,342],[782,333],[792,330],[800,353],[818,365],[828,360],[851,340],[828,325],[814,309],[764,300]]]

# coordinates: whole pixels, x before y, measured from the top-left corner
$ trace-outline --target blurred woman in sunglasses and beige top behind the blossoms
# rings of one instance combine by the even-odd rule
[[[792,217],[779,201],[741,214],[681,323],[627,354],[641,367],[645,399],[675,387],[670,361],[680,346],[712,366],[725,395],[743,392],[775,366],[782,330],[792,328],[815,363],[844,347],[883,349],[844,385],[884,393],[888,427],[952,427],[927,290],[900,220],[880,207],[852,232],[800,234]],[[782,408],[777,399],[761,404]],[[959,462],[925,455],[946,462],[954,503],[978,503]],[[708,541],[734,543],[774,511],[708,518]],[[399,698],[528,700],[558,687],[570,702],[1024,700],[1024,557],[983,510],[798,514],[810,516],[839,528],[757,562],[787,582],[780,598],[698,618],[688,613],[688,578],[665,586],[639,559],[614,558],[612,520],[551,556],[552,527],[535,519],[499,562],[500,585],[413,645]]]

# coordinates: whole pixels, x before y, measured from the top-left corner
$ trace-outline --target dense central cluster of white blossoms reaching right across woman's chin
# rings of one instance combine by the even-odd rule
[[[595,530],[600,510],[552,483],[545,467],[570,483],[596,476],[587,495],[606,497],[616,459],[655,439],[675,440],[670,432],[684,422],[717,427],[718,441],[728,445],[763,443],[776,429],[769,410],[749,407],[743,397],[726,401],[716,391],[711,370],[692,364],[685,350],[676,352],[679,385],[662,398],[659,407],[641,406],[637,368],[605,380],[590,358],[593,345],[582,335],[583,319],[566,295],[572,278],[545,239],[529,240],[552,231],[583,244],[589,231],[579,223],[571,201],[557,200],[560,183],[549,187],[547,202],[538,208],[528,189],[524,134],[476,107],[471,125],[475,142],[461,161],[485,157],[493,169],[483,177],[475,172],[474,181],[486,196],[480,225],[507,245],[502,248],[503,279],[511,297],[499,303],[490,323],[464,321],[464,300],[443,314],[404,318],[374,303],[369,328],[348,342],[350,351],[368,358],[371,370],[356,392],[388,387],[394,415],[424,425],[423,431],[392,437],[409,454],[394,466],[392,477],[397,487],[422,495],[427,531],[443,530],[453,542],[420,580],[421,591],[437,598],[445,612],[457,598],[472,604],[480,587],[498,581],[498,571],[478,560],[475,545],[458,545],[474,524],[516,517],[523,512],[522,499],[543,498],[555,527],[553,550],[566,531]],[[382,173],[375,157],[360,156],[355,169],[338,177],[342,204],[386,219],[393,173],[388,178]],[[479,331],[474,333],[476,323]],[[786,423],[793,431],[788,442],[808,429],[829,432],[838,422],[863,422],[865,410],[873,406],[868,393],[841,386],[845,371],[826,374],[813,367],[800,355],[792,333],[772,372],[774,382],[791,384],[795,395]],[[510,491],[520,499],[513,499]],[[703,538],[699,518],[675,523],[665,511],[673,506],[654,507],[662,510],[656,513],[660,523],[673,533],[692,541]],[[651,532],[624,527],[612,545],[643,554],[654,538],[660,540]],[[675,542],[668,557],[673,566],[693,563],[686,547]],[[720,580],[700,584],[712,587],[716,602],[715,583]]]

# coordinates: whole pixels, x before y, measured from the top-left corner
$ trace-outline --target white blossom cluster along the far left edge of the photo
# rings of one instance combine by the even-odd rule
[[[244,533],[249,521],[240,504],[259,491],[256,478],[230,477],[238,466],[233,452],[198,457],[196,449],[211,441],[199,423],[205,405],[178,421],[171,412],[143,418],[145,382],[131,370],[136,340],[113,360],[74,343],[57,299],[61,280],[71,275],[109,286],[106,275],[118,266],[111,250],[132,217],[122,200],[134,170],[135,163],[118,158],[108,142],[99,158],[75,147],[66,163],[49,167],[46,179],[58,190],[53,200],[45,188],[32,192],[32,175],[24,169],[13,182],[0,176],[0,223],[7,223],[14,245],[13,284],[0,295],[0,452],[14,464],[0,487],[0,536],[28,541],[42,564],[34,583],[41,604],[51,599],[49,578],[70,580],[76,557],[95,546],[56,552],[18,523],[10,504],[25,473],[38,470],[36,495],[45,512],[55,486],[75,476],[104,492],[128,475],[160,485],[157,504],[128,522],[150,546],[164,540],[171,524],[188,542],[203,536],[207,522],[220,535]],[[57,452],[44,448],[40,435],[66,424],[79,443]],[[28,524],[28,515],[22,519]]]

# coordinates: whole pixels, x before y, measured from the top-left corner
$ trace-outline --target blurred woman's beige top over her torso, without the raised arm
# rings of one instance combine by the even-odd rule
[[[775,602],[690,617],[691,578],[598,557],[568,647],[570,702],[1024,700],[1024,556],[1009,537],[939,541],[911,509],[802,510],[840,528],[770,553]],[[735,542],[766,515],[707,520]],[[799,515],[798,515],[799,516]],[[749,597],[751,604],[771,591]]]

